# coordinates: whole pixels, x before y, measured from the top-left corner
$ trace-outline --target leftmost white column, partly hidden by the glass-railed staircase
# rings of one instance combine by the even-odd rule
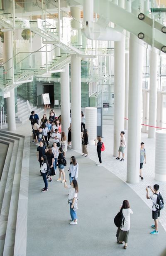
[[[5,71],[7,72],[7,77],[13,77],[13,40],[12,31],[4,32],[4,46],[3,46],[3,58],[5,63]],[[6,98],[7,103],[7,128],[10,131],[15,131],[15,90],[10,90],[10,97]]]

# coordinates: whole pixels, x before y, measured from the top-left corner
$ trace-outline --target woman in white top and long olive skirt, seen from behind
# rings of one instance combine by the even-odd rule
[[[120,207],[121,208],[121,207]],[[117,243],[123,244],[125,242],[124,249],[127,249],[127,242],[129,236],[129,229],[130,229],[130,213],[132,214],[132,209],[130,209],[129,201],[124,200],[122,204],[122,214],[125,218],[122,220],[122,225],[120,228],[117,229]],[[124,221],[124,222],[123,222]]]

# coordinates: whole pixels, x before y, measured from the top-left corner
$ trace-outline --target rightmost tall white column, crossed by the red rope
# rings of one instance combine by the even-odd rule
[[[150,88],[149,88],[149,125],[156,126],[157,119],[157,54],[151,49],[150,54]],[[148,137],[155,138],[156,128],[149,127]]]

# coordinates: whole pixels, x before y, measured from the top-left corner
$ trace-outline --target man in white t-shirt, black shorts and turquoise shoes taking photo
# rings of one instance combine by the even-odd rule
[[[149,196],[149,191],[148,188],[151,189],[153,195]],[[158,231],[158,218],[160,217],[160,210],[156,208],[156,203],[157,203],[157,195],[159,194],[159,185],[155,184],[154,185],[154,189],[151,188],[151,186],[146,187],[146,198],[147,199],[151,199],[153,202],[152,205],[152,218],[154,219],[154,225],[151,225],[152,228],[154,228],[155,230],[150,232],[151,235],[155,235],[155,234],[159,234]]]

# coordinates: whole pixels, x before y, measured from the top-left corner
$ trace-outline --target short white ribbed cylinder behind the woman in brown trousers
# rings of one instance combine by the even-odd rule
[[[85,108],[86,129],[88,130],[88,141],[94,145],[94,139],[97,137],[97,108]]]

